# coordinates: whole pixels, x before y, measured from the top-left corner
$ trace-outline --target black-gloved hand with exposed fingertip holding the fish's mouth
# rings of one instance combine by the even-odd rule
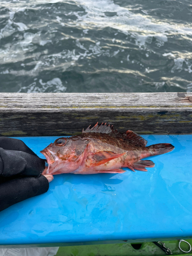
[[[0,137],[0,211],[47,192],[52,175],[41,175],[45,160],[22,141]]]

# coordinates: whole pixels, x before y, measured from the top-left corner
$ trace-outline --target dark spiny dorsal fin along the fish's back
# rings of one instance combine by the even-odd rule
[[[91,129],[90,126],[86,129],[86,131],[82,130],[82,133],[106,133],[113,137],[119,138],[122,141],[128,141],[133,145],[146,146],[147,144],[147,141],[145,139],[143,139],[141,136],[131,130],[128,130],[125,133],[120,133],[117,130],[113,130],[113,125],[106,125],[106,123],[101,123],[101,125],[98,125],[98,122]]]

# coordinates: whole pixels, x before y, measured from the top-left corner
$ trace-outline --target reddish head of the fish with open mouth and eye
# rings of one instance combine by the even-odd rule
[[[72,173],[83,159],[87,143],[71,138],[58,138],[40,151],[49,164],[46,174]]]

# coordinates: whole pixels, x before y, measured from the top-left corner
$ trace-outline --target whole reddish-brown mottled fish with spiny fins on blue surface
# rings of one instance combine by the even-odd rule
[[[142,158],[175,148],[169,143],[146,146],[147,141],[137,133],[121,133],[110,124],[97,122],[90,126],[80,135],[58,138],[40,151],[49,164],[46,174],[121,174],[125,172],[123,167],[146,172],[146,167],[154,167],[155,163]]]

